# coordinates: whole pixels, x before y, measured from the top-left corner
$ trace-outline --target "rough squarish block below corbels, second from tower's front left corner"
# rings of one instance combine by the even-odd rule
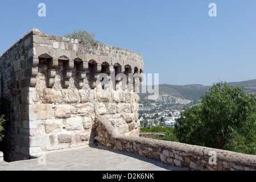
[[[54,89],[43,90],[43,101],[46,103],[60,103],[61,102],[61,91]]]

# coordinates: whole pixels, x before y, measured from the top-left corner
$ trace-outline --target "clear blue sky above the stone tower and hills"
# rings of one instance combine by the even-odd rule
[[[46,17],[38,4],[46,4]],[[209,3],[217,17],[210,17]],[[96,40],[141,53],[160,84],[256,78],[255,0],[1,1],[0,54],[32,28],[57,36],[91,30]]]

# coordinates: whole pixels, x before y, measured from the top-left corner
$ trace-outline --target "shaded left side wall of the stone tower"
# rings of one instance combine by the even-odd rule
[[[33,56],[31,36],[32,32],[24,35],[0,57],[0,96],[7,100],[8,116],[1,150],[7,161],[28,158],[29,130],[26,113]]]

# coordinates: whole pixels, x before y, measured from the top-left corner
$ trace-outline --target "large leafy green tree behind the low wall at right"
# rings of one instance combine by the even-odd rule
[[[256,97],[218,82],[176,119],[180,142],[256,154]]]

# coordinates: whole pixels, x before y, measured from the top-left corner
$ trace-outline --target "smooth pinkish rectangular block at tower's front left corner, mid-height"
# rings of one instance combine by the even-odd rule
[[[49,119],[52,117],[51,104],[34,104],[29,105],[30,120]]]

